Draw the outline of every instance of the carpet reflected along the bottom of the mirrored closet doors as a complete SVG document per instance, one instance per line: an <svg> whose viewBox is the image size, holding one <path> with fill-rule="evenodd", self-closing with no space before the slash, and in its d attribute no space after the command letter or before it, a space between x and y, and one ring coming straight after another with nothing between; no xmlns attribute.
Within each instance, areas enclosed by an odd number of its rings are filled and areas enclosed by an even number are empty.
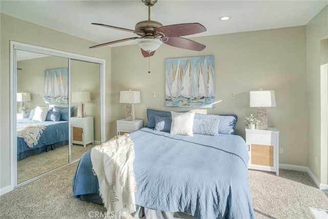
<svg viewBox="0 0 328 219"><path fill-rule="evenodd" d="M72 160L82 156L95 145L89 144L72 145ZM68 145L50 150L41 154L26 157L17 162L17 184L23 183L31 178L68 164Z"/></svg>

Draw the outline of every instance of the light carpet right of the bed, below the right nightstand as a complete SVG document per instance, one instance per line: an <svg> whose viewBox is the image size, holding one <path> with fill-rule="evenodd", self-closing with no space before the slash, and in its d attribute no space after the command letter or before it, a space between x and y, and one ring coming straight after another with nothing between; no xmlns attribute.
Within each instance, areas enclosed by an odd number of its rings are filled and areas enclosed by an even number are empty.
<svg viewBox="0 0 328 219"><path fill-rule="evenodd" d="M310 207L328 209L328 197L306 172L249 170L256 218L315 218Z"/></svg>

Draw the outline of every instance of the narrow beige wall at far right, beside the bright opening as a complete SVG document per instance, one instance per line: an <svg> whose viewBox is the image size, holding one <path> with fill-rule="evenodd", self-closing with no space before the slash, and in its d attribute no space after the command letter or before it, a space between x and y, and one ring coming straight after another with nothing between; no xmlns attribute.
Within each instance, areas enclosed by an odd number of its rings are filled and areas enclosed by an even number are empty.
<svg viewBox="0 0 328 219"><path fill-rule="evenodd" d="M306 106L308 108L308 166L320 183L327 184L327 109L324 109L326 95L321 86L320 44L321 39L328 35L328 6L321 10L306 25ZM326 88L325 88L326 89ZM318 156L318 165L315 164ZM321 177L323 176L323 177Z"/></svg>

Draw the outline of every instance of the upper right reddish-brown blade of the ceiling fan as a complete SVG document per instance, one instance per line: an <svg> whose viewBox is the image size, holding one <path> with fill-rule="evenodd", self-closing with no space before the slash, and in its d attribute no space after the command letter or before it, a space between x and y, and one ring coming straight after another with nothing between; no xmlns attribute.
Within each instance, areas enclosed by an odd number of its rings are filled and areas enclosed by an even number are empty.
<svg viewBox="0 0 328 219"><path fill-rule="evenodd" d="M206 28L199 23L174 24L162 26L156 32L163 33L165 36L187 36L191 34L205 32Z"/></svg>

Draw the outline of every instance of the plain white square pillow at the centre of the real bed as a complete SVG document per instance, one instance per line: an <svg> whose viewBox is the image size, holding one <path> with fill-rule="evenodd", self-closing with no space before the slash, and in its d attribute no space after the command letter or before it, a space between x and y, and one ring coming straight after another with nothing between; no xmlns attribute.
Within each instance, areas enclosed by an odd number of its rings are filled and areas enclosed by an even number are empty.
<svg viewBox="0 0 328 219"><path fill-rule="evenodd" d="M173 112L170 134L193 135L194 112Z"/></svg>

